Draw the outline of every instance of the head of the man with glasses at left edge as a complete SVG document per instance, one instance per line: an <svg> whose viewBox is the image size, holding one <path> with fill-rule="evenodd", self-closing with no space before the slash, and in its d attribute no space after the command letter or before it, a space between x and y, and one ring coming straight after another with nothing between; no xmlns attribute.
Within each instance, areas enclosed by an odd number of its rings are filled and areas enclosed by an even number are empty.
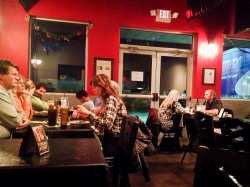
<svg viewBox="0 0 250 187"><path fill-rule="evenodd" d="M9 60L0 60L0 85L6 90L17 86L19 68Z"/></svg>

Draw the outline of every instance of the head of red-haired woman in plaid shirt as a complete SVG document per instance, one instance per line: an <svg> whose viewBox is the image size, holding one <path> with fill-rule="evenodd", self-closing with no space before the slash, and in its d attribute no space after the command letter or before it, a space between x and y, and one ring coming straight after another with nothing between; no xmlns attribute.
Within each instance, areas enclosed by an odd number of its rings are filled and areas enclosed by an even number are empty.
<svg viewBox="0 0 250 187"><path fill-rule="evenodd" d="M102 96L103 99L106 99L110 95L119 98L119 93L112 86L109 77L105 74L94 76L90 81L90 85L93 87L94 94Z"/></svg>

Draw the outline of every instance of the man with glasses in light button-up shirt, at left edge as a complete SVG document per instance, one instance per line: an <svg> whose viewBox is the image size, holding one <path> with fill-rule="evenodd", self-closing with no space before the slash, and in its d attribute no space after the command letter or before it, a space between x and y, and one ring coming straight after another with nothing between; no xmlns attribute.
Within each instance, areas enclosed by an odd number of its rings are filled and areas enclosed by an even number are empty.
<svg viewBox="0 0 250 187"><path fill-rule="evenodd" d="M19 82L18 70L9 60L0 60L0 138L10 138L14 129L30 124L26 115L16 110L11 91Z"/></svg>

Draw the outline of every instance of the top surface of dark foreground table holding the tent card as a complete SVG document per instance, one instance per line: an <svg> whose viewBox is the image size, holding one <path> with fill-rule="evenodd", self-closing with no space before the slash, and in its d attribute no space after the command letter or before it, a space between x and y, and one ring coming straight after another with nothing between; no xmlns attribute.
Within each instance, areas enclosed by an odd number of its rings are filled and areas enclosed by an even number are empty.
<svg viewBox="0 0 250 187"><path fill-rule="evenodd" d="M22 139L0 140L0 170L19 167L106 167L100 143L95 138L49 139L50 152L44 156L19 157Z"/></svg>

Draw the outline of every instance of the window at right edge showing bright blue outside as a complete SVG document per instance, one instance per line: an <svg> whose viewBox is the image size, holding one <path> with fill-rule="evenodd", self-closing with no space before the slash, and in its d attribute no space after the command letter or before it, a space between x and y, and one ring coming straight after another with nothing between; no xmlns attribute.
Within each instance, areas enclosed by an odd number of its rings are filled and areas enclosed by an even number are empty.
<svg viewBox="0 0 250 187"><path fill-rule="evenodd" d="M250 40L224 39L221 95L250 99Z"/></svg>

